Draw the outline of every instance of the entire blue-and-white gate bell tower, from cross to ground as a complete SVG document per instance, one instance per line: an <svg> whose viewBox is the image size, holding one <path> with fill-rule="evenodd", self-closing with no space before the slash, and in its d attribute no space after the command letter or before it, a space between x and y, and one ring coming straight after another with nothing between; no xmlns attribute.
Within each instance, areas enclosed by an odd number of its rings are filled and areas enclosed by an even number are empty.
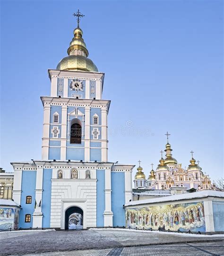
<svg viewBox="0 0 224 256"><path fill-rule="evenodd" d="M68 56L49 69L51 95L43 103L42 159L11 163L19 228L86 229L125 226L134 165L108 161L104 73L88 58L74 14Z"/></svg>

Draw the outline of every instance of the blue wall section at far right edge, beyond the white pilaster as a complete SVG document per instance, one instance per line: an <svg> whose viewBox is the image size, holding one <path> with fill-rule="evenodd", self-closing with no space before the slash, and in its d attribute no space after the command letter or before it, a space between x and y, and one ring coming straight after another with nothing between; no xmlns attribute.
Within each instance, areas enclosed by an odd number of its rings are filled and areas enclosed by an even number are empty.
<svg viewBox="0 0 224 256"><path fill-rule="evenodd" d="M224 231L224 202L213 201L212 206L215 231Z"/></svg>

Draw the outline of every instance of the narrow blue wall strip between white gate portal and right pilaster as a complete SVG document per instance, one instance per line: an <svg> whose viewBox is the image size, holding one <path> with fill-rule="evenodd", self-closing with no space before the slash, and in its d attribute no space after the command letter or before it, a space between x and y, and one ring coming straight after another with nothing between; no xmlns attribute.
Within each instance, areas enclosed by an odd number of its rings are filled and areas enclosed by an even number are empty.
<svg viewBox="0 0 224 256"><path fill-rule="evenodd" d="M96 170L96 226L104 227L105 210L105 170Z"/></svg>

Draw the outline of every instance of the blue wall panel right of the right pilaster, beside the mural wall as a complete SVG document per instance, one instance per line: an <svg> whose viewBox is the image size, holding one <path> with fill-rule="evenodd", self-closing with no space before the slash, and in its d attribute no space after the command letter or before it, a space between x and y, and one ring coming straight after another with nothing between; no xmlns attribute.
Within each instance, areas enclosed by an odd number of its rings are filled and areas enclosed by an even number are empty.
<svg viewBox="0 0 224 256"><path fill-rule="evenodd" d="M111 203L113 212L113 227L125 226L125 210L123 205L125 204L125 177L124 172L112 172L111 173Z"/></svg>

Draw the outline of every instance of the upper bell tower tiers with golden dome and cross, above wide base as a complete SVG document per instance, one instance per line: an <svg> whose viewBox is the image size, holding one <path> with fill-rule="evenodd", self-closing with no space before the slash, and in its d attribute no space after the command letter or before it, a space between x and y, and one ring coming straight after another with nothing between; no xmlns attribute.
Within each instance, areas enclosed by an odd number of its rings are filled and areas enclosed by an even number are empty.
<svg viewBox="0 0 224 256"><path fill-rule="evenodd" d="M110 101L102 100L104 73L88 57L79 27L84 15L74 13L68 56L49 69L51 96L43 96L43 160L107 162L107 115Z"/></svg>

